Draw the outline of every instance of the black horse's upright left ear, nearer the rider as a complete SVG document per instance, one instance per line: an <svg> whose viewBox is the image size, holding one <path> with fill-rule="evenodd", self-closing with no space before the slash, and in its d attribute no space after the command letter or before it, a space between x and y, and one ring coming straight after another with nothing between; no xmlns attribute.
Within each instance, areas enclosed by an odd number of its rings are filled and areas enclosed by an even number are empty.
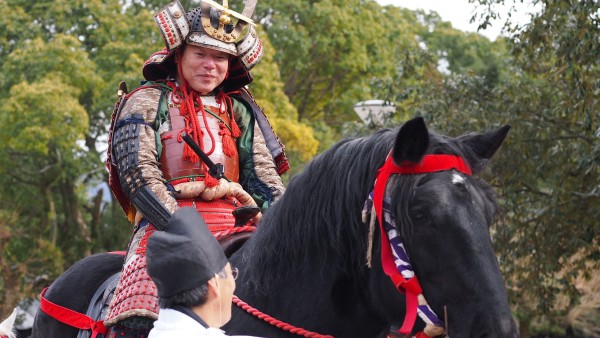
<svg viewBox="0 0 600 338"><path fill-rule="evenodd" d="M394 162L404 161L418 163L429 147L429 131L422 117L416 117L406 123L398 131L396 143L392 151Z"/></svg>

